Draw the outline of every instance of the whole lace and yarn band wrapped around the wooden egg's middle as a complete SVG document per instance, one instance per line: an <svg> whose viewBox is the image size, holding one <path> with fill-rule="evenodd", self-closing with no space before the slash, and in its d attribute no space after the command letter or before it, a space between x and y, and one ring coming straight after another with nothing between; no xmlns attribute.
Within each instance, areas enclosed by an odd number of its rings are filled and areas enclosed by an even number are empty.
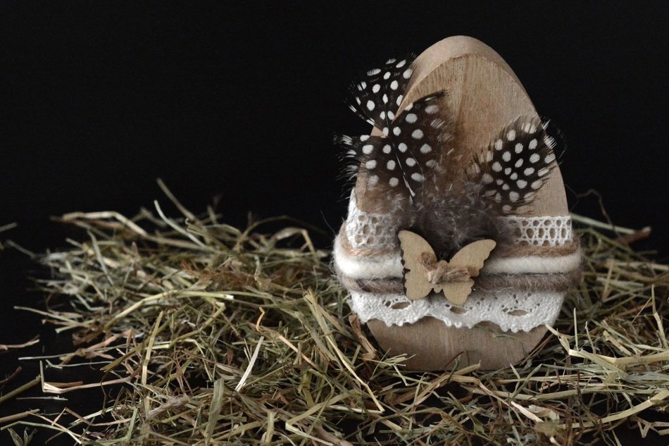
<svg viewBox="0 0 669 446"><path fill-rule="evenodd" d="M552 324L568 287L580 277L581 255L570 216L503 217L512 243L499 246L475 278L463 305L432 293L412 301L404 295L397 240L401 224L392 214L358 209L351 194L349 214L335 238L335 270L349 290L361 321L402 326L427 316L447 326L471 328L495 323L501 330L530 331Z"/></svg>

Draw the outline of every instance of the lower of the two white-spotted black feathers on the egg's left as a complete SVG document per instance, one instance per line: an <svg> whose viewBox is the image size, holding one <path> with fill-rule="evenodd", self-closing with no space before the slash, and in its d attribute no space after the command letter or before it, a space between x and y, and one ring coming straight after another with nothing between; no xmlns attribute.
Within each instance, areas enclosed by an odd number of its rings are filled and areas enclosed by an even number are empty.
<svg viewBox="0 0 669 446"><path fill-rule="evenodd" d="M340 137L339 142L368 174L368 187L415 196L439 164L441 144L450 133L440 118L443 92L418 99L384 123L382 136Z"/></svg>

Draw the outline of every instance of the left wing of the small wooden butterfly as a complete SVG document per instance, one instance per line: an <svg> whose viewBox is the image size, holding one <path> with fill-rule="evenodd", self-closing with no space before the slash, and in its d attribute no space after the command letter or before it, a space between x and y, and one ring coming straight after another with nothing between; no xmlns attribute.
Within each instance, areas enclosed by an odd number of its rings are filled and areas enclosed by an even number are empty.
<svg viewBox="0 0 669 446"><path fill-rule="evenodd" d="M416 233L408 230L399 231L399 246L402 249L402 264L404 265L404 288L406 297L411 300L423 299L430 294L433 285L427 281L425 267L420 264L420 256L430 253L436 261L437 256L427 241Z"/></svg>

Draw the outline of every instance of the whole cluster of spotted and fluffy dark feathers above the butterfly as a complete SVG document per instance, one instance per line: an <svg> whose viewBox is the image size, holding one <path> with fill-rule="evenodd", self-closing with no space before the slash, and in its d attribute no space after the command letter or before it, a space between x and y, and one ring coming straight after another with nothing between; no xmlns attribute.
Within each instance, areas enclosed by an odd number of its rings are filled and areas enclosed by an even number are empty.
<svg viewBox="0 0 669 446"><path fill-rule="evenodd" d="M380 135L339 136L365 187L391 200L392 213L446 258L474 240L510 243L504 219L532 202L556 166L548 124L519 116L463 165L470 147L451 146L454 117L446 92L429 94L400 112L413 59L390 59L351 85L351 109Z"/></svg>

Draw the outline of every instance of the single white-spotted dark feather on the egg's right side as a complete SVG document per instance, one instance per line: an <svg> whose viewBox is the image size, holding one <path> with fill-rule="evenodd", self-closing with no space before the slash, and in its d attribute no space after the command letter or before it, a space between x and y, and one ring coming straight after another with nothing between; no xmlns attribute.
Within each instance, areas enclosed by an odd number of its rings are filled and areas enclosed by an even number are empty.
<svg viewBox="0 0 669 446"><path fill-rule="evenodd" d="M482 185L482 194L503 213L532 202L556 167L556 139L548 123L520 117L503 128L475 159L470 180Z"/></svg>

